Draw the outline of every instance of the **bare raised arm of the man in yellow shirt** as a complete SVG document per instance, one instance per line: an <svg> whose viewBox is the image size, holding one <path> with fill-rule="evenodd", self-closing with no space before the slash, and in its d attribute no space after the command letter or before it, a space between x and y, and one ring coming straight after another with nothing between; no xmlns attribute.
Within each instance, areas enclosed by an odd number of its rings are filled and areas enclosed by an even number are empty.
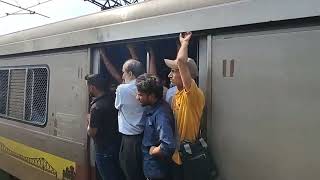
<svg viewBox="0 0 320 180"><path fill-rule="evenodd" d="M192 83L192 76L190 74L187 60L188 60L188 46L191 39L191 32L181 33L180 34L180 44L181 47L177 54L177 64L182 79L183 87L187 90L190 89Z"/></svg>

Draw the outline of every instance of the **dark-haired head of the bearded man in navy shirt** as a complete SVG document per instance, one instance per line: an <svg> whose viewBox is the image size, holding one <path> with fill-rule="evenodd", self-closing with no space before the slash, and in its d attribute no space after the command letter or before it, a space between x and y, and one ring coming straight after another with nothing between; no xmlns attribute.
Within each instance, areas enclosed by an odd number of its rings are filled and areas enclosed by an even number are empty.
<svg viewBox="0 0 320 180"><path fill-rule="evenodd" d="M142 74L137 78L137 100L142 106L152 105L163 96L161 80L152 74Z"/></svg>

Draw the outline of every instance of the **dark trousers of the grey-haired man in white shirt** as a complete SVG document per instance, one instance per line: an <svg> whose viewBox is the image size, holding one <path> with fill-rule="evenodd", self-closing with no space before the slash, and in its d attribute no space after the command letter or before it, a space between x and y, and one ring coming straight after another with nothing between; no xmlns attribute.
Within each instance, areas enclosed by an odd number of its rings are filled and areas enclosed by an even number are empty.
<svg viewBox="0 0 320 180"><path fill-rule="evenodd" d="M141 144L142 135L122 135L119 160L126 180L145 180Z"/></svg>

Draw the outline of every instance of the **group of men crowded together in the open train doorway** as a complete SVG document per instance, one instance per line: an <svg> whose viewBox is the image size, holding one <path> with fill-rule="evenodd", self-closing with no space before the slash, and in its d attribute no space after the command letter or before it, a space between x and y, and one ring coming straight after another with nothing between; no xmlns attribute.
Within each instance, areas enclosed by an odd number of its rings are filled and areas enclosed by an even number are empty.
<svg viewBox="0 0 320 180"><path fill-rule="evenodd" d="M99 49L107 72L119 83L115 95L112 95L103 91L105 87L101 85L99 75L87 79L89 92L95 96L91 103L88 135L94 137L98 149L96 164L103 180L112 179L110 174L118 173L106 169L112 163L113 167L120 164L126 180L183 180L188 174L178 149L182 141L196 140L205 104L203 92L195 82L197 64L188 57L191 36L191 32L181 33L176 59L164 60L171 69L168 77L172 84L165 93L162 80L157 76L152 47L146 48L149 67L145 73L134 46L127 45L130 57L122 66L122 75L108 57L110 52ZM114 103L110 107L111 103L106 102L112 97ZM117 113L117 117L111 117L112 113ZM116 153L119 156L115 155L110 145L112 142L108 141L109 136L115 137L117 133L121 134L121 140L115 139L121 145L113 147L118 148ZM104 155L110 154L118 157L118 162L105 158Z"/></svg>

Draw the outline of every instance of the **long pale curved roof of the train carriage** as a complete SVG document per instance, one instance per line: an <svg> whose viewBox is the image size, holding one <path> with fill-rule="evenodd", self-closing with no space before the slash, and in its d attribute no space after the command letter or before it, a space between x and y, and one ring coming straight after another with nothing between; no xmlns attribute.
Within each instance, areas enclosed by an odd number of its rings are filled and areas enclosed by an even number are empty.
<svg viewBox="0 0 320 180"><path fill-rule="evenodd" d="M151 0L0 36L0 56L319 15L319 0Z"/></svg>

